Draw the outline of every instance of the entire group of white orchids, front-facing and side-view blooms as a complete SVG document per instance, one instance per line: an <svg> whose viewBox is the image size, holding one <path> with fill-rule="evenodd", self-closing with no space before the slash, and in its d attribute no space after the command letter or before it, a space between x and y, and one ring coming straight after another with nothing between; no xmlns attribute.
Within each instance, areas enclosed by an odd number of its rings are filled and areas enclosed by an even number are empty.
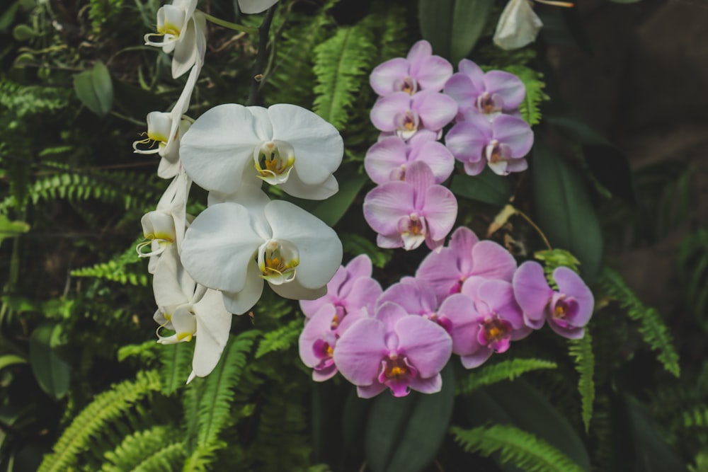
<svg viewBox="0 0 708 472"><path fill-rule="evenodd" d="M239 5L244 13L258 13L275 1ZM190 73L172 110L149 113L147 139L133 144L138 153L159 154L158 175L172 179L157 208L142 218L147 241L137 251L150 258L154 275L158 342L195 338L188 381L214 369L232 313L249 311L264 282L285 298L317 299L342 260L333 229L261 190L265 181L294 197L334 195L338 183L332 174L344 147L332 125L286 104L266 109L232 103L197 120L184 116L206 50L206 16L196 3L174 0L161 7L158 33L145 37L148 45L173 52L174 78ZM192 183L209 192L207 208L196 217L186 211Z"/></svg>

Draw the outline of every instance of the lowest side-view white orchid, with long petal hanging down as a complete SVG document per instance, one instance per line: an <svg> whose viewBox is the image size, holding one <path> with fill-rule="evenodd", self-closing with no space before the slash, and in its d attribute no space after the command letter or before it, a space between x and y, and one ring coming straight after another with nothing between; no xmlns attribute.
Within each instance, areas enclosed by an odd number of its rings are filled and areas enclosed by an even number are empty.
<svg viewBox="0 0 708 472"><path fill-rule="evenodd" d="M196 284L179 263L178 258L161 258L153 279L158 309L154 319L160 328L175 331L161 336L158 343L184 343L195 338L192 373L203 377L216 367L229 340L232 314L224 307L222 294Z"/></svg>

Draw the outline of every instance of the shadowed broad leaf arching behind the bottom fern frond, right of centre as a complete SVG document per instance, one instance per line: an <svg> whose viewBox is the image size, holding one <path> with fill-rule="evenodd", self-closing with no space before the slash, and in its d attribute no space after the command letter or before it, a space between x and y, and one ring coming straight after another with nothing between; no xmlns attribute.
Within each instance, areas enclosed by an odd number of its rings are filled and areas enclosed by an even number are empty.
<svg viewBox="0 0 708 472"><path fill-rule="evenodd" d="M588 451L576 430L547 398L523 379L480 388L466 398L473 426L486 422L514 425L544 439L590 471Z"/></svg>

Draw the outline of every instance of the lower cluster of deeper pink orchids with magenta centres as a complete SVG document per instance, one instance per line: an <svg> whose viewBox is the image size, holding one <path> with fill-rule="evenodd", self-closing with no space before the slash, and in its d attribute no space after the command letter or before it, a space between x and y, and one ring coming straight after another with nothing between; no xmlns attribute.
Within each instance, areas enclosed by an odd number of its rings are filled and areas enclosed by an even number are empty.
<svg viewBox="0 0 708 472"><path fill-rule="evenodd" d="M567 267L517 267L502 246L465 227L423 260L415 277L382 291L366 255L342 266L325 297L301 301L307 320L299 338L302 362L316 381L341 374L362 398L389 388L435 393L451 355L467 369L506 352L545 321L565 338L581 338L593 313L593 294Z"/></svg>

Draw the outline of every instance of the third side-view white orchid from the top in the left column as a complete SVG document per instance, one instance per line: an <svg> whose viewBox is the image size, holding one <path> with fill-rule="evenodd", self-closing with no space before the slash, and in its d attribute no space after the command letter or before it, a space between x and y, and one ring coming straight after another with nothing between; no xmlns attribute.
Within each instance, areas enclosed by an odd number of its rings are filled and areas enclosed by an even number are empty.
<svg viewBox="0 0 708 472"><path fill-rule="evenodd" d="M159 258L168 248L174 248L176 255L179 253L187 226L187 197L191 185L192 180L184 171L178 173L157 202L157 208L140 220L147 241L137 245L137 253L141 258L150 258L148 271L151 274L155 273ZM146 252L144 249L148 247Z"/></svg>

